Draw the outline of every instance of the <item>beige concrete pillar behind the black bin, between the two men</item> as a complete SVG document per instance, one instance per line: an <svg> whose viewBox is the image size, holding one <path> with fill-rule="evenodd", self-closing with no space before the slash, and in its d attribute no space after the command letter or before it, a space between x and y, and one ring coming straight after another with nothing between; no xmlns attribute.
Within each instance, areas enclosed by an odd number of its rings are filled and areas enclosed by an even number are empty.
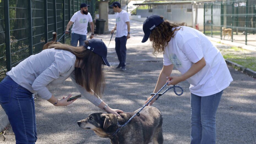
<svg viewBox="0 0 256 144"><path fill-rule="evenodd" d="M108 31L108 1L99 2L99 19L106 20L104 31Z"/></svg>

